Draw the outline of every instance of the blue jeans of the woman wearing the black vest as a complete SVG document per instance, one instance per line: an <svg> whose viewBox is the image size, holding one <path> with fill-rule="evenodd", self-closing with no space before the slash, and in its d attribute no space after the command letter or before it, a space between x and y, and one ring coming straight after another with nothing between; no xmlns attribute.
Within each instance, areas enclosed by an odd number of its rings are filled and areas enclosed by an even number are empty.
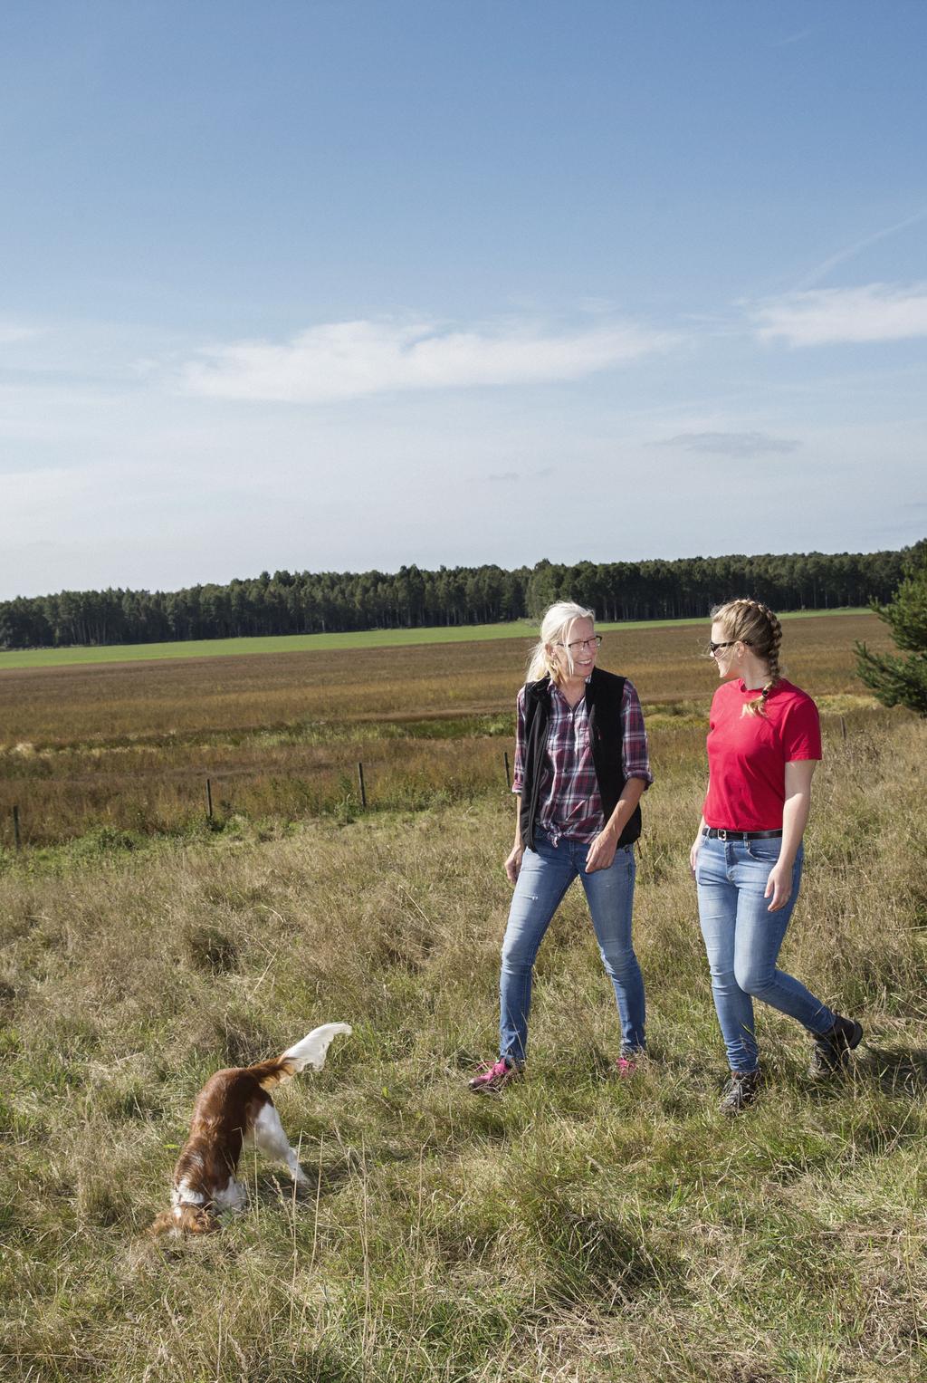
<svg viewBox="0 0 927 1383"><path fill-rule="evenodd" d="M550 920L579 874L586 891L598 952L615 986L622 1022L622 1052L644 1050L644 979L631 946L634 846L615 852L611 869L586 874L589 845L561 837L553 845L535 837L525 851L501 943L499 978L500 1055L521 1064L528 1047L528 1015L535 957Z"/></svg>

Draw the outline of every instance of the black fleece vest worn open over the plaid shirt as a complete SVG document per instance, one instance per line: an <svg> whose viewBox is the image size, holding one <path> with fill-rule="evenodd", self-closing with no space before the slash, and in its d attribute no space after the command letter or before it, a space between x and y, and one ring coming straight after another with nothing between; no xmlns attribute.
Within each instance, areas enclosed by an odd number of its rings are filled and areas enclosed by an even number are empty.
<svg viewBox="0 0 927 1383"><path fill-rule="evenodd" d="M626 779L622 773L622 697L624 678L593 668L586 683L589 709L589 740L598 780L605 820L618 806ZM550 727L550 678L525 683L525 763L521 781L521 838L528 849L535 848L535 823L544 750ZM641 809L635 806L619 838L619 846L630 845L641 834Z"/></svg>

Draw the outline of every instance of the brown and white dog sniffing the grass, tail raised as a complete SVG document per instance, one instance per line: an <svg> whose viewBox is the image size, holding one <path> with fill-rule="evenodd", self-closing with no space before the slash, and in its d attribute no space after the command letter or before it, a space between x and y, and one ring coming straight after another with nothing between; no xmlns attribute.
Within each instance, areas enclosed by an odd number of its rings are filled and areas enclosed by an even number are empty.
<svg viewBox="0 0 927 1383"><path fill-rule="evenodd" d="M307 1066L322 1070L338 1033L350 1036L348 1023L323 1023L282 1057L210 1076L196 1097L189 1135L174 1167L171 1209L157 1216L152 1234L209 1234L218 1228L216 1217L222 1210L240 1210L247 1189L236 1178L238 1159L249 1138L268 1158L286 1162L293 1181L305 1181L269 1091Z"/></svg>

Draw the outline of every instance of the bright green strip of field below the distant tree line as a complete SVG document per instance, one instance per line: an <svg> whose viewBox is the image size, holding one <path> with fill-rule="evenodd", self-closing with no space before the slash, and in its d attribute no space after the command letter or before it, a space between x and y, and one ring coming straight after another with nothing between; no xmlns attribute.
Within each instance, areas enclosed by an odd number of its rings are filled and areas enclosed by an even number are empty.
<svg viewBox="0 0 927 1383"><path fill-rule="evenodd" d="M800 610L783 620L862 614L862 610ZM623 624L600 624L608 629L653 629L705 624L705 620L629 620ZM162 658L238 658L254 653L312 653L326 649L390 649L417 643L474 643L484 639L536 639L537 625L526 620L508 624L467 624L430 629L363 629L354 633L267 635L256 639L191 639L171 643L124 643L101 647L23 649L0 653L0 672L6 668L52 668L82 662L145 662Z"/></svg>

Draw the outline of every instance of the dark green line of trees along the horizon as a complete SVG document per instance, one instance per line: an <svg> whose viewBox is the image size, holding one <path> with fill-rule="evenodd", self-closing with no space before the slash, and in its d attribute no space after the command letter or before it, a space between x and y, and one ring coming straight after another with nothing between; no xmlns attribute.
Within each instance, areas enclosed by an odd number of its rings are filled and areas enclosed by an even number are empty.
<svg viewBox="0 0 927 1383"><path fill-rule="evenodd" d="M0 602L0 649L493 624L536 620L561 597L612 621L703 617L739 595L774 610L825 610L888 600L915 550L262 571L184 591L59 591Z"/></svg>

